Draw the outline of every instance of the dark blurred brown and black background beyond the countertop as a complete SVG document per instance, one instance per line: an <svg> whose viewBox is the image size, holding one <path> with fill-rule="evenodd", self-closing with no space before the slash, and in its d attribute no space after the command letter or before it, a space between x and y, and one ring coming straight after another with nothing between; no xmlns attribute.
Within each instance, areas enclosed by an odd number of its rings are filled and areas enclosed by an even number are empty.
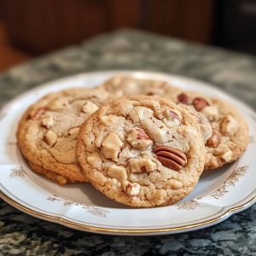
<svg viewBox="0 0 256 256"><path fill-rule="evenodd" d="M125 27L256 55L256 0L0 0L0 72Z"/></svg>

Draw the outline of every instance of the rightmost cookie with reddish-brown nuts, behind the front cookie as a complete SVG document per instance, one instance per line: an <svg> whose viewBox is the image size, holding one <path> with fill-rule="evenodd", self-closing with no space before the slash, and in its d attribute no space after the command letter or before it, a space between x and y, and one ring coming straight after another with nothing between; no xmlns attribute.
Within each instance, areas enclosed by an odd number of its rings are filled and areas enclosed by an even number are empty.
<svg viewBox="0 0 256 256"><path fill-rule="evenodd" d="M237 160L247 148L248 125L241 113L228 102L183 90L166 95L185 108L203 114L211 124L211 136L205 141L206 169L216 169ZM209 131L209 129L207 129Z"/></svg>

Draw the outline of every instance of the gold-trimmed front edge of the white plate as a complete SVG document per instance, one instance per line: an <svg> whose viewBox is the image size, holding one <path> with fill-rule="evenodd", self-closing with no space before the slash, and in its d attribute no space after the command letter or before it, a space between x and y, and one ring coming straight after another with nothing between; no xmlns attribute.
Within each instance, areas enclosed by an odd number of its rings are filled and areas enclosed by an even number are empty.
<svg viewBox="0 0 256 256"><path fill-rule="evenodd" d="M173 228L164 228L164 229L152 229L152 230L122 230L122 229L107 229L107 228L101 228L101 227L92 227L89 225L84 225L84 224L78 224L73 221L67 220L65 218L61 217L56 217L52 216L49 214L41 213L34 211L28 207L22 206L19 202L14 201L12 198L10 198L8 195L5 195L3 191L0 191L0 197L8 202L11 206L19 209L21 212L25 212L29 215L32 215L33 217L37 218L42 218L44 220L48 220L50 222L54 222L57 224L62 224L64 226L73 228L75 230L84 230L84 231L90 231L90 232L97 232L97 233L103 233L103 234L127 234L127 235L138 235L138 234L160 234L160 233L166 233L166 232L178 232L178 231L183 231L183 230L193 230L194 228L200 228L204 225L211 225L214 223L217 223L219 220L228 217L229 214L232 214L233 212L240 211L243 208L249 207L250 205L253 205L253 203L256 201L256 196L253 196L253 198L246 203L237 206L237 207L232 207L226 212L224 212L221 216L218 216L217 218L212 218L206 221L202 221L201 223L197 224L189 224L189 225L184 225L184 226L179 226L179 227L173 227Z"/></svg>

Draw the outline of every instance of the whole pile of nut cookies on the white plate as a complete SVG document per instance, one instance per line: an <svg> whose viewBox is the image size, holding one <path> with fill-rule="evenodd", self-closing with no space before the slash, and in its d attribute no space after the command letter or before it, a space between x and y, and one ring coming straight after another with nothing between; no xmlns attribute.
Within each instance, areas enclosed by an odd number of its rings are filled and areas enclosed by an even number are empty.
<svg viewBox="0 0 256 256"><path fill-rule="evenodd" d="M44 96L17 137L32 170L55 183L89 181L125 205L157 207L189 195L204 169L239 158L248 126L227 102L116 76Z"/></svg>

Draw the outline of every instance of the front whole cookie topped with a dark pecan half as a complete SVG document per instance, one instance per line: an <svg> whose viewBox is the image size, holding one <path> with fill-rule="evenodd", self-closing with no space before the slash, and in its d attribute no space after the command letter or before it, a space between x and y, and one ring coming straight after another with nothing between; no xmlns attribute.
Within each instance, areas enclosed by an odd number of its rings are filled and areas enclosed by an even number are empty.
<svg viewBox="0 0 256 256"><path fill-rule="evenodd" d="M90 183L131 207L180 201L205 162L193 116L159 96L128 96L102 106L81 126L76 152Z"/></svg>

